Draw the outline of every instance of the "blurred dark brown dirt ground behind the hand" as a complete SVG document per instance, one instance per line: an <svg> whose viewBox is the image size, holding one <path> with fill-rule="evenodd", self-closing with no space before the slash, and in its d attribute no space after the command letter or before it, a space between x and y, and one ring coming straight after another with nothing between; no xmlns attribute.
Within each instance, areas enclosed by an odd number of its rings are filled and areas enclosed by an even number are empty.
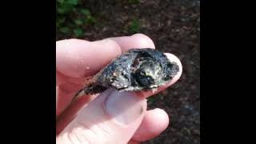
<svg viewBox="0 0 256 144"><path fill-rule="evenodd" d="M149 100L149 109L166 110L170 126L157 138L143 143L200 143L200 1L90 0L82 6L97 18L95 24L84 27L83 39L93 41L138 32L153 39L158 50L175 54L182 61L182 78ZM135 26L130 27L134 21ZM57 30L56 39L62 38L74 35Z"/></svg>

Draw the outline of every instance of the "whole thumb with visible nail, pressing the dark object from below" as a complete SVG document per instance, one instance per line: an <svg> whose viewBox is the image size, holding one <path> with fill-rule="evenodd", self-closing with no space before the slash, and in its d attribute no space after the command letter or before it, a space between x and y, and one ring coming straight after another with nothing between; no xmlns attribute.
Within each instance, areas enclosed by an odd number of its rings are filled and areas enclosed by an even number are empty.
<svg viewBox="0 0 256 144"><path fill-rule="evenodd" d="M106 90L78 112L56 143L127 144L145 112L146 99L134 92Z"/></svg>

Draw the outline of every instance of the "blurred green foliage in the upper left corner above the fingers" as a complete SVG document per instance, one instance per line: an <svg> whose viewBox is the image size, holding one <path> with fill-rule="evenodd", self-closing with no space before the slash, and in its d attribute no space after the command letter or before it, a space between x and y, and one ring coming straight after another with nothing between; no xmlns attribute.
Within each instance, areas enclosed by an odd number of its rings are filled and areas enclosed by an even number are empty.
<svg viewBox="0 0 256 144"><path fill-rule="evenodd" d="M57 34L74 35L76 38L81 38L85 27L96 22L96 18L91 15L90 10L81 6L83 1L85 0L56 0Z"/></svg>

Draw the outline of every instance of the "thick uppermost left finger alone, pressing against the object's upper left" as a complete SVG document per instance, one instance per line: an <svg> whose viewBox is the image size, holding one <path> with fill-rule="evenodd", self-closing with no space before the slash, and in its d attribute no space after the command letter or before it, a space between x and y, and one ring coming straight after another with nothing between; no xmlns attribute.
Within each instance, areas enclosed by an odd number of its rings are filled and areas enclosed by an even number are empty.
<svg viewBox="0 0 256 144"><path fill-rule="evenodd" d="M96 42L62 40L56 42L56 68L66 77L82 78L95 74L119 54L120 46L110 39Z"/></svg>

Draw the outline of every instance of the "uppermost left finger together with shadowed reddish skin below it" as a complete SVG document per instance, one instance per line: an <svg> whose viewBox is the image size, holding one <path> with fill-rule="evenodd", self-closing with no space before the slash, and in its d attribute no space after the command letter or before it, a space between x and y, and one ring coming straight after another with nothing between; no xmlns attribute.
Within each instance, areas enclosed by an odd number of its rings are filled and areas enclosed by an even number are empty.
<svg viewBox="0 0 256 144"><path fill-rule="evenodd" d="M56 115L61 114L74 94L82 89L86 77L97 73L121 53L120 46L110 39L96 42L69 39L56 42Z"/></svg>

